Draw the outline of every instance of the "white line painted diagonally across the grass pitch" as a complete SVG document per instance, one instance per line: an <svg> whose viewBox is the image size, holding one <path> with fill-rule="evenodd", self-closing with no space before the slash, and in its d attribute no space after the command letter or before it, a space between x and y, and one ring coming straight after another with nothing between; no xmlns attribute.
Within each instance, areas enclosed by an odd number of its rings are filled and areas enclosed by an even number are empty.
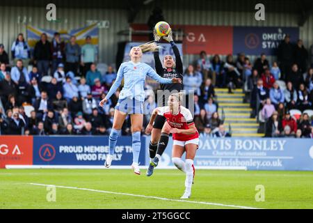
<svg viewBox="0 0 313 223"><path fill-rule="evenodd" d="M187 200L179 200L179 199L168 199L165 197L154 197L154 196L145 196L141 194L128 194L128 193L122 193L122 192L111 192L106 190L93 190L88 188L80 188L80 187L65 187L65 186L58 186L58 185L48 185L48 184L41 184L41 183L28 183L30 185L37 185L37 186L53 186L53 187L59 187L59 188L66 188L66 189L74 189L74 190L86 190L91 192L99 192L99 193L105 193L105 194L118 194L118 195L126 195L126 196L132 196L132 197L143 197L148 199L158 199L163 201L177 201L177 202L185 202L185 203L197 203L197 204L205 204L205 205L211 205L211 206L223 206L223 207L230 207L230 208L243 208L243 209L262 209L262 208L252 208L247 206L236 206L232 204L223 204L223 203L211 203L211 202L204 202L204 201L187 201Z"/></svg>

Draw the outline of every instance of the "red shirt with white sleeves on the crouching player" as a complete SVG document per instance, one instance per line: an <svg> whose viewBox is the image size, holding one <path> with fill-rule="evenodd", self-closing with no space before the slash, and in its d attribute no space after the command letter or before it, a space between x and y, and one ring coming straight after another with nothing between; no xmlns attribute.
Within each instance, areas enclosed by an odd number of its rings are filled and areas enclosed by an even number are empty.
<svg viewBox="0 0 313 223"><path fill-rule="evenodd" d="M171 128L178 128L180 130L188 130L188 125L193 124L193 116L191 112L186 109L186 107L180 107L178 114L174 115L170 113L170 107L159 107L158 114L160 116L166 117L166 121ZM178 141L188 141L191 139L197 139L199 137L198 130L194 134L182 134L174 133L172 134L172 139Z"/></svg>

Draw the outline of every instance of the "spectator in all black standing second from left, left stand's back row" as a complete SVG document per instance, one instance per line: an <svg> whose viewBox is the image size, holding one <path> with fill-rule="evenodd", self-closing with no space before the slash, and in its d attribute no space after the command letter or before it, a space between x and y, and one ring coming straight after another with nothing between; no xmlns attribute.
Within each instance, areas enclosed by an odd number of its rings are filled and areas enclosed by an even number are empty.
<svg viewBox="0 0 313 223"><path fill-rule="evenodd" d="M37 65L40 75L48 75L49 66L51 63L51 43L48 41L46 33L42 33L40 40L35 44L33 50L34 63Z"/></svg>

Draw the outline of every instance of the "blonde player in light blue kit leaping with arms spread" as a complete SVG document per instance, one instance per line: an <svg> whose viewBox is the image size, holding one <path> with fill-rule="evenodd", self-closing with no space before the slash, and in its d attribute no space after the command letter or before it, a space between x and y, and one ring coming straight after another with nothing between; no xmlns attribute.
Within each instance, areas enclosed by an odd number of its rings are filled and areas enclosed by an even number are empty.
<svg viewBox="0 0 313 223"><path fill-rule="evenodd" d="M147 43L138 47L131 48L129 56L131 61L122 63L118 69L118 75L106 95L99 105L102 107L104 103L109 100L111 95L120 86L124 78L124 87L120 91L118 103L115 106L113 128L109 137L109 155L106 156L105 167L109 168L113 160L114 149L118 135L121 132L122 124L127 115L131 118L131 133L132 133L132 148L133 148L133 163L131 168L134 169L135 174L141 174L138 167L139 153L141 151L141 128L143 128L143 102L145 100L145 91L143 86L145 84L145 77L148 75L161 84L182 83L179 78L166 79L160 77L146 63L141 63L143 52L153 52L158 47L154 43Z"/></svg>

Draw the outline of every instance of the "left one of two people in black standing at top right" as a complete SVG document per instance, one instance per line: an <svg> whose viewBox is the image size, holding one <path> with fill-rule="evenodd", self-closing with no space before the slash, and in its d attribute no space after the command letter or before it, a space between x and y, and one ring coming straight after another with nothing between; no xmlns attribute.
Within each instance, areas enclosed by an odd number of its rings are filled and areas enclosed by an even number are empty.
<svg viewBox="0 0 313 223"><path fill-rule="evenodd" d="M294 62L294 45L290 43L290 36L284 36L284 40L278 45L278 62L282 71L282 79L285 80L291 72L290 68ZM294 83L295 84L295 83Z"/></svg>

